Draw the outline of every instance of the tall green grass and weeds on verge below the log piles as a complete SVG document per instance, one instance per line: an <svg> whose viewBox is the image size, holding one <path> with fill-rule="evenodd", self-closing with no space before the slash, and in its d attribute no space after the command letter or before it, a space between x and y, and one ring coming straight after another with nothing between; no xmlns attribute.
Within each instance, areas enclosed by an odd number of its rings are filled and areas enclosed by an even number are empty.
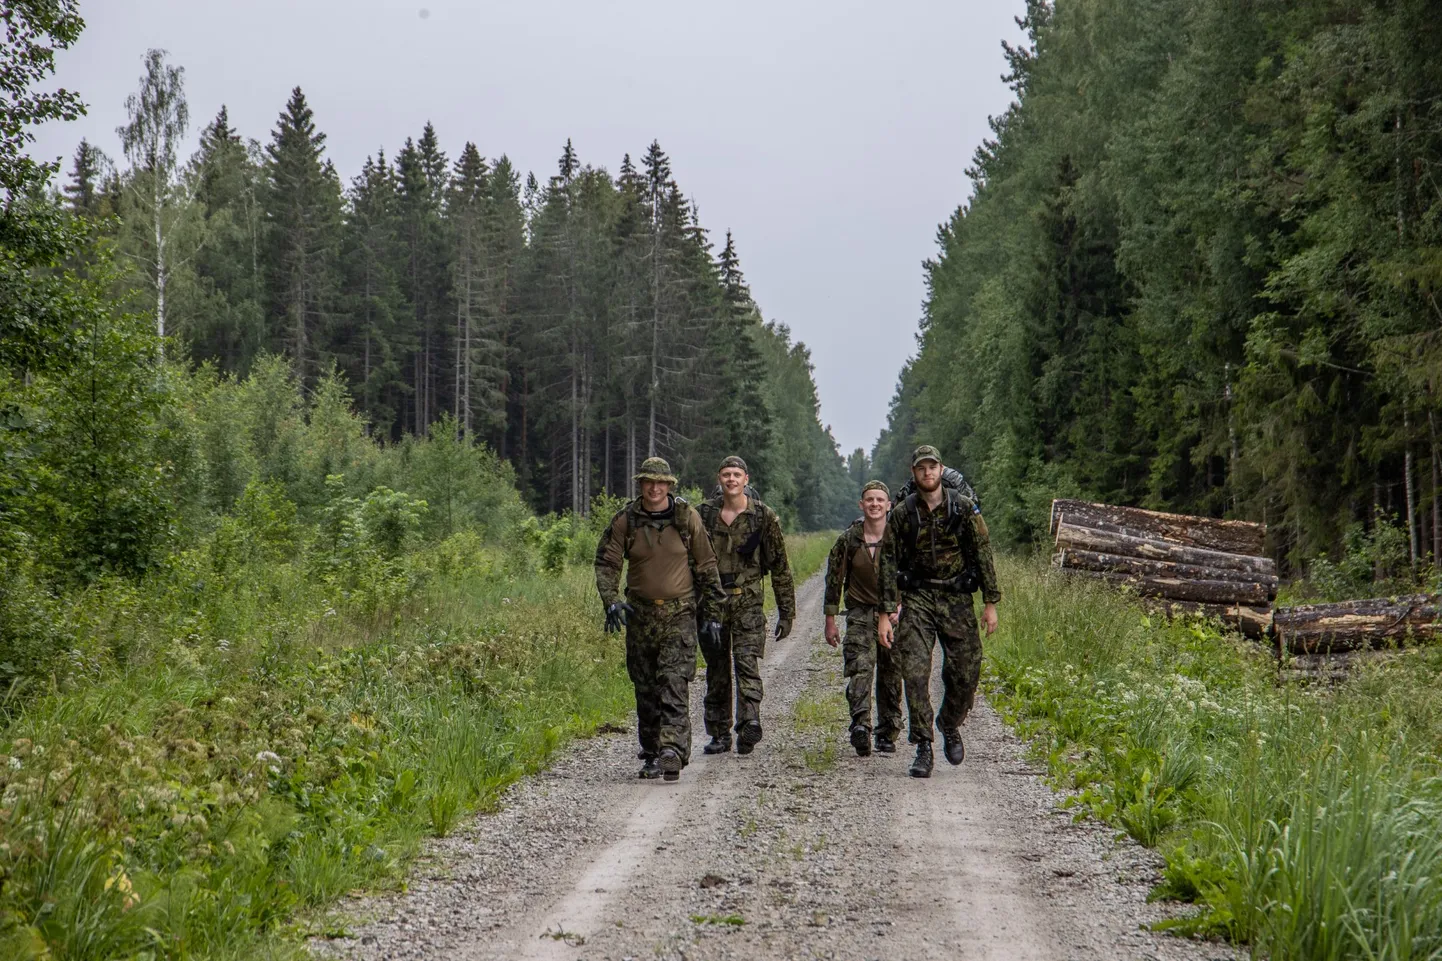
<svg viewBox="0 0 1442 961"><path fill-rule="evenodd" d="M1167 859L1182 932L1276 961L1442 957L1442 649L1282 680L1200 622L1005 561L992 698L1073 804Z"/></svg>

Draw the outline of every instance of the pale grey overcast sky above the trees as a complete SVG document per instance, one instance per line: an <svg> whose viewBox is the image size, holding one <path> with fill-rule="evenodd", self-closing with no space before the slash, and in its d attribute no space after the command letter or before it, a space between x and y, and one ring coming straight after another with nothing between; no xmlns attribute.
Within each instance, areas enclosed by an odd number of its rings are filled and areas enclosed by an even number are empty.
<svg viewBox="0 0 1442 961"><path fill-rule="evenodd" d="M115 127L147 48L186 69L192 141L226 104L265 141L306 91L349 182L427 120L539 177L571 137L616 170L652 139L717 241L734 231L751 293L810 348L822 423L871 449L916 351L921 260L966 198L963 169L1005 110L1001 40L1022 0L81 0L58 81L89 115L40 130L39 156Z"/></svg>

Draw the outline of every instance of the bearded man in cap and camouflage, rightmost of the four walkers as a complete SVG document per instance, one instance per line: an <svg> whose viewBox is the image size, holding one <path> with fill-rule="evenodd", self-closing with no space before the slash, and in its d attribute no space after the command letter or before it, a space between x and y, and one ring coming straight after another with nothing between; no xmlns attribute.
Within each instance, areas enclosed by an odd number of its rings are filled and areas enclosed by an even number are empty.
<svg viewBox="0 0 1442 961"><path fill-rule="evenodd" d="M881 566L881 607L901 619L895 629L897 658L906 683L910 740L916 745L913 778L932 776L932 648L942 642L945 697L936 726L946 759L962 763L966 747L957 727L972 710L981 680L982 639L976 629L972 592L981 587L986 633L996 629L996 569L986 521L975 501L942 486L942 455L921 446L911 453L916 492L898 502L887 521ZM891 644L891 619L878 615L881 644Z"/></svg>

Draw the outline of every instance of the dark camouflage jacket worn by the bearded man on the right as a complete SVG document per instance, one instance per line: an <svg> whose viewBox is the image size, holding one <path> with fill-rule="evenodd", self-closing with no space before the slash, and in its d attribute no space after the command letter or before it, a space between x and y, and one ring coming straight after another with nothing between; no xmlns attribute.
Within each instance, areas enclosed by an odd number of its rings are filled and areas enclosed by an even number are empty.
<svg viewBox="0 0 1442 961"><path fill-rule="evenodd" d="M920 495L891 508L883 553L884 610L894 610L900 600L897 574L901 571L920 580L952 580L970 570L981 584L982 602L1001 600L986 521L976 504L957 491L947 491L939 511L927 508Z"/></svg>

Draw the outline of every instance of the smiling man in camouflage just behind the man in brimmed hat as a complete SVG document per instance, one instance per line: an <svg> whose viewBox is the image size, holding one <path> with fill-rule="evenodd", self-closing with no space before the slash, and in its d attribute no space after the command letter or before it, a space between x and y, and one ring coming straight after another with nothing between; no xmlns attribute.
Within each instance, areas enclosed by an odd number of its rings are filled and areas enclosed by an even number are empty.
<svg viewBox="0 0 1442 961"><path fill-rule="evenodd" d="M735 752L748 755L761 740L761 665L766 654L766 613L761 610L763 577L771 574L776 593L776 639L792 632L796 589L786 560L782 522L771 508L747 495L750 475L737 456L721 462L721 493L701 504L698 512L711 535L721 570L725 603L721 636L702 642L707 659L708 755L731 750L731 671L735 670Z"/></svg>

